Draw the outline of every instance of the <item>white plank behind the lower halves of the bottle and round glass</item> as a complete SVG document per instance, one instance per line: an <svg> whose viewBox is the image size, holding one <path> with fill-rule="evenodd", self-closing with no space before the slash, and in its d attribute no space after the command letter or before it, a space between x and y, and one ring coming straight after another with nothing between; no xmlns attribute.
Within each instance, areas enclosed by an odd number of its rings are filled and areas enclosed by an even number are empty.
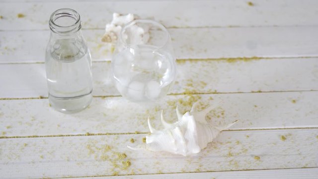
<svg viewBox="0 0 318 179"><path fill-rule="evenodd" d="M181 60L170 93L318 90L318 58ZM93 63L93 95L119 95L109 62ZM0 97L47 95L44 64L0 65Z"/></svg>

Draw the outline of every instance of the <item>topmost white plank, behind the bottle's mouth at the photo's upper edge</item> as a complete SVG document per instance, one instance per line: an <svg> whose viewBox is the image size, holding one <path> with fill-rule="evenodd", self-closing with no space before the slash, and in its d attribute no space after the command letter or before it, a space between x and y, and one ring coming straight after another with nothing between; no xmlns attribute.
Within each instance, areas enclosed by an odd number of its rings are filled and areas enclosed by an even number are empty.
<svg viewBox="0 0 318 179"><path fill-rule="evenodd" d="M142 18L155 18L167 27L304 26L317 25L316 6L316 0L302 3L258 0L253 1L253 5L249 5L246 0L2 2L0 30L47 29L51 13L64 7L79 12L83 28L104 28L113 12L136 13ZM232 15L229 16L229 12ZM18 13L24 16L18 18Z"/></svg>

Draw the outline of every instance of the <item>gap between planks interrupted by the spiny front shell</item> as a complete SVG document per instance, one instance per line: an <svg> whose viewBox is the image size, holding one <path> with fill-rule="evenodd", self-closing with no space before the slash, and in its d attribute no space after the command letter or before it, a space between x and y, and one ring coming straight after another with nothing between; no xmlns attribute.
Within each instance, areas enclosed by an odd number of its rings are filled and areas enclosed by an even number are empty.
<svg viewBox="0 0 318 179"><path fill-rule="evenodd" d="M318 127L290 127L290 128L255 128L255 129L227 129L223 131L259 131L259 130L296 130L296 129L318 129ZM222 131L222 132L223 132ZM135 135L148 134L149 132L126 132L126 133L89 133L85 134L61 134L61 135L30 135L30 136L0 136L1 139L15 139L15 138L46 138L46 137L78 137L78 136L107 136L107 135ZM222 172L222 171L221 171Z"/></svg>

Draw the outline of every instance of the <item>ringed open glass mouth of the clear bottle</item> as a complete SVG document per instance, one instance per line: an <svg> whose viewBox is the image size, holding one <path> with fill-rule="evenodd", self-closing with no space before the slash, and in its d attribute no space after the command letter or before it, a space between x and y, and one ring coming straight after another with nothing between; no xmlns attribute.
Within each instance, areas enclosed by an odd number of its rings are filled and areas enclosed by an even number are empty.
<svg viewBox="0 0 318 179"><path fill-rule="evenodd" d="M70 8L58 9L51 14L49 26L53 32L59 34L76 32L81 28L79 13Z"/></svg>

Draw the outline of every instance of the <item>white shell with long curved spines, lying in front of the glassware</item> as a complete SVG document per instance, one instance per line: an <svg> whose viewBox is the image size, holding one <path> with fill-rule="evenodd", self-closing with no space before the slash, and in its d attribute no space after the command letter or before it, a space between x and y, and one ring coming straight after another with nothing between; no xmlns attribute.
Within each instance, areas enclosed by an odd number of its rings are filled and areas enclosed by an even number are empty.
<svg viewBox="0 0 318 179"><path fill-rule="evenodd" d="M212 142L217 135L231 127L237 121L224 126L213 127L205 119L205 116L210 112L215 105L209 106L202 111L197 111L198 101L192 106L190 112L181 115L178 107L176 113L178 121L173 124L167 123L162 116L161 123L164 130L156 130L150 124L148 118L148 125L151 135L146 136L146 144L140 144L136 147L127 146L130 149L145 149L150 151L166 151L173 154L180 154L189 156L199 153L202 149L207 147L207 144Z"/></svg>

